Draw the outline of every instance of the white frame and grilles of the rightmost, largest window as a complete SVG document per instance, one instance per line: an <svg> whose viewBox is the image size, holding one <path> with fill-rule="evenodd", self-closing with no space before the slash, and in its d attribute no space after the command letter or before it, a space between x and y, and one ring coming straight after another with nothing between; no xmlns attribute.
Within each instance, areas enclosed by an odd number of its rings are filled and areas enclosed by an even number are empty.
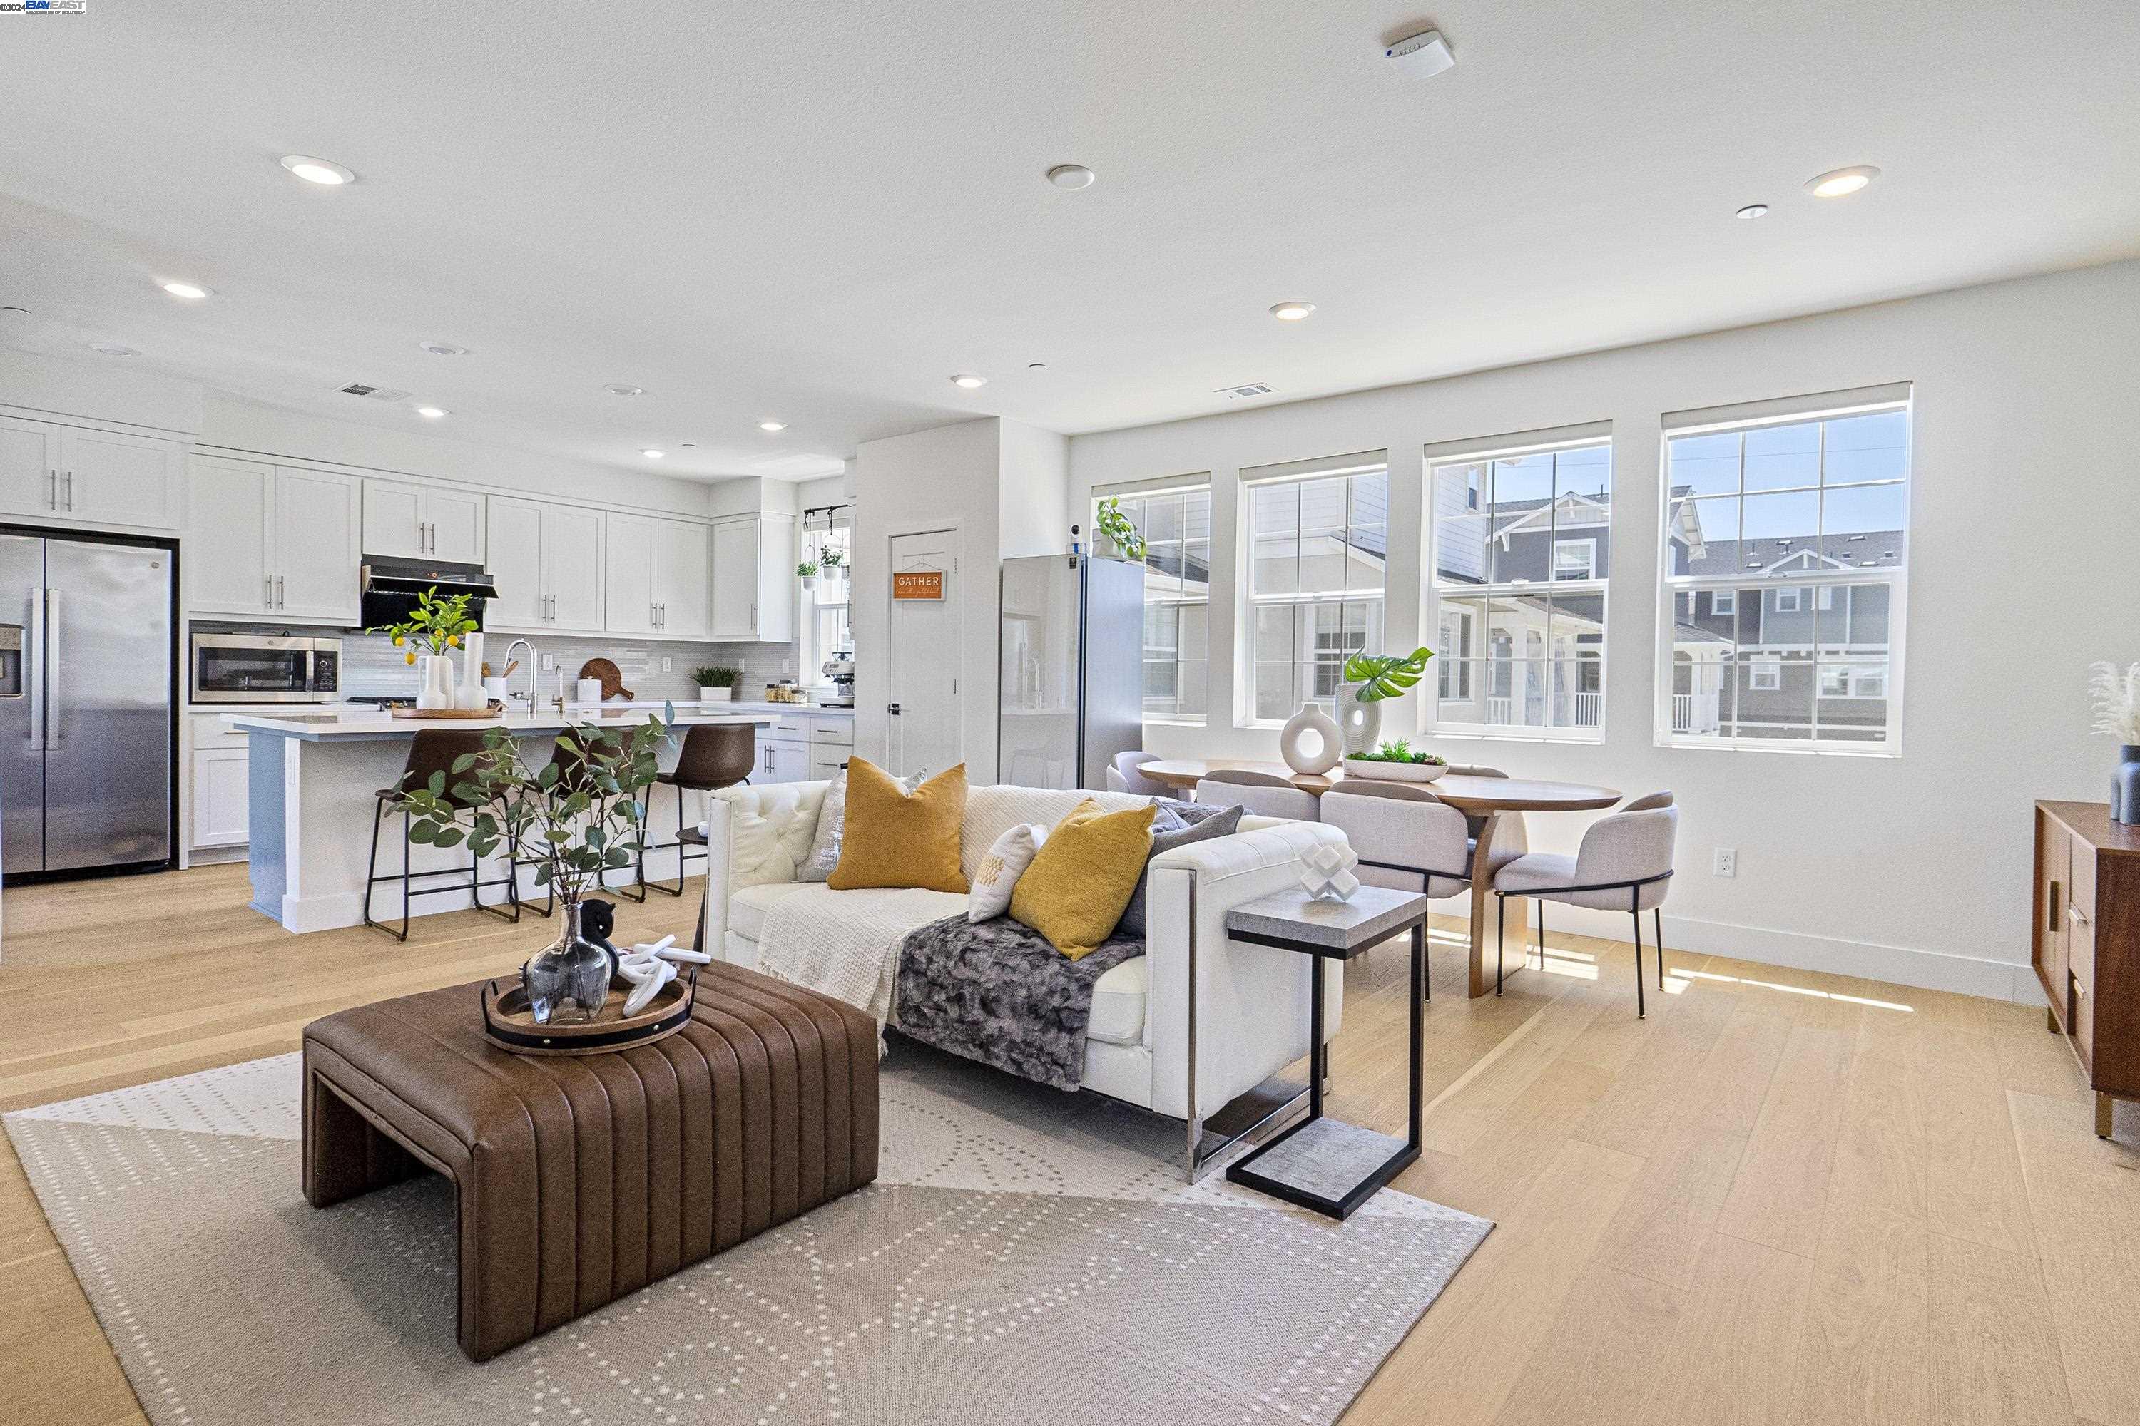
<svg viewBox="0 0 2140 1426"><path fill-rule="evenodd" d="M1789 575L1673 575L1671 573L1671 440L1678 436L1695 436L1706 432L1731 432L1731 430L1755 430L1766 425L1798 425L1806 421L1825 421L1840 417L1860 417L1881 410L1902 413L1905 432L1905 462L1902 479L1892 481L1902 487L1902 539L1911 541L1913 507L1915 507L1915 408L1911 383L1892 383L1885 387L1860 387L1853 391L1830 391L1821 396L1806 398L1785 398L1774 402L1751 402L1746 406L1725 406L1710 410L1688 410L1688 413L1665 413L1663 415L1663 440L1658 443L1658 620L1656 620L1656 654L1654 654L1654 708L1656 708L1656 731L1654 742L1661 748L1708 748L1727 753L1798 753L1798 755L1819 755L1819 757L1902 757L1902 693L1905 693L1905 633L1909 629L1909 558L1900 564L1881 569L1819 569L1810 567L1804 571L1793 571ZM1825 458L1823 458L1825 460ZM1825 470L1823 470L1825 475ZM1847 487L1847 485L1836 485ZM1828 490L1823 483L1819 490ZM1759 494L1759 492L1757 492ZM1825 498L1825 496L1823 496ZM1853 537L1855 539L1855 537ZM1815 545L1817 547L1817 545ZM1815 607L1825 596L1830 607L1836 586L1860 586L1860 584L1885 584L1887 586L1887 644L1885 644L1885 693L1864 695L1855 693L1864 684L1853 676L1851 695L1821 695L1819 667L1843 663L1843 656L1819 656L1813 652L1808 663L1813 663L1813 697L1808 699L1813 708L1810 738L1806 740L1783 740L1783 738L1723 738L1723 735L1701 735L1701 733L1673 733L1671 731L1671 708L1673 708L1673 618L1676 618L1676 596L1708 590L1712 596L1731 590L1744 590L1748 586L1761 584L1766 579L1789 579L1793 586L1815 590ZM1783 588L1778 588L1778 594ZM1712 603L1712 614L1725 614ZM1736 596L1729 611L1736 616ZM1789 611L1789 609L1783 609ZM1766 635L1766 631L1763 631ZM1817 650L1817 644L1815 644ZM1761 648L1740 648L1738 661L1744 663L1753 656L1763 654ZM1763 658L1766 661L1766 658ZM1819 738L1819 706L1823 701L1834 701L1836 697L1864 697L1887 703L1887 735L1883 742L1858 742L1858 740L1821 740Z"/></svg>

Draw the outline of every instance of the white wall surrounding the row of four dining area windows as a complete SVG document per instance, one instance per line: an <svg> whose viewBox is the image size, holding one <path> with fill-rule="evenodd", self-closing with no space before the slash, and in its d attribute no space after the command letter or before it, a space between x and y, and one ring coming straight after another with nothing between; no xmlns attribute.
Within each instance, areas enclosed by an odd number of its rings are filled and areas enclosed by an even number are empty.
<svg viewBox="0 0 2140 1426"><path fill-rule="evenodd" d="M1432 334L1421 334L1432 340ZM1207 727L1162 753L1275 757L1233 727L1241 466L1389 449L1389 646L1421 629L1421 447L1586 421L1614 428L1607 723L1601 746L1436 740L1457 761L1680 795L1667 945L2039 998L2029 960L2035 797L2101 800L2084 669L2140 658L2140 263L1939 293L1588 357L1074 436L1094 485L1213 477ZM1658 748L1652 735L1658 415L1915 383L1902 757ZM1400 727L1417 710L1391 714ZM1530 819L1573 851L1584 817ZM1738 849L1738 879L1710 849ZM1560 924L1571 924L1562 913ZM1596 921L1624 936L1626 921Z"/></svg>

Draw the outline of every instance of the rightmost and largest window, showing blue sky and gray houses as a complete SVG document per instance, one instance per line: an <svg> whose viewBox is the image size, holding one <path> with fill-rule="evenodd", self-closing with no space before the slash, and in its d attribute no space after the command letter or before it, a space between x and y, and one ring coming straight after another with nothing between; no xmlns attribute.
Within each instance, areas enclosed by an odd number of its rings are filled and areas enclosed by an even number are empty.
<svg viewBox="0 0 2140 1426"><path fill-rule="evenodd" d="M1678 430L1667 417L1658 742L1894 750L1909 389L1860 396Z"/></svg>

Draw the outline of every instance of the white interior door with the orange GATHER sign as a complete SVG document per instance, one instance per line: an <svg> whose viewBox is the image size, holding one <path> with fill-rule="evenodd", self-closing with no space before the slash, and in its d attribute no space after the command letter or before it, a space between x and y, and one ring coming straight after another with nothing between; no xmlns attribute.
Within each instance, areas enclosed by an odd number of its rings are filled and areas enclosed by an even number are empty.
<svg viewBox="0 0 2140 1426"><path fill-rule="evenodd" d="M935 776L965 759L965 720L959 714L959 532L892 537L892 584L901 573L942 575L942 599L892 596L890 686L886 753L897 776Z"/></svg>

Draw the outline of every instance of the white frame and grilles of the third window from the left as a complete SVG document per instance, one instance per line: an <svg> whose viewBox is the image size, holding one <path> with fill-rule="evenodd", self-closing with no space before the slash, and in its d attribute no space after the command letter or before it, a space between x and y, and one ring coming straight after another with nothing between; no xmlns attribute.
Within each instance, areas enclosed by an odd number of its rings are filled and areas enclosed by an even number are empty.
<svg viewBox="0 0 2140 1426"><path fill-rule="evenodd" d="M1442 468L1449 468L1449 466L1472 466L1472 464L1492 464L1496 460L1509 460L1513 455L1556 455L1556 453L1562 453L1562 451L1603 449L1605 451L1605 468L1609 472L1609 479L1614 481L1614 494L1618 494L1618 475L1611 472L1611 425L1605 425L1605 423L1599 423L1599 425L1573 425L1573 428L1558 428L1554 432L1532 432L1532 436L1534 438L1509 436L1509 438L1487 438L1487 440L1468 440L1468 443L1451 443L1451 445L1427 447L1427 466L1425 466L1425 477L1427 479L1425 479L1425 498L1423 498L1425 520L1427 520L1427 539L1423 541L1421 579L1427 586L1427 599L1434 605L1432 618L1425 624L1427 629L1434 631L1434 648L1436 648L1436 658L1427 665L1430 669L1436 663L1442 661L1442 654L1440 654L1440 650L1444 646L1444 639L1442 639L1442 620L1447 618L1442 614L1442 599L1481 599L1481 596L1483 599L1494 599L1494 596L1507 596L1507 599L1539 596L1539 599L1549 599L1549 596L1556 596L1556 594L1562 594L1562 596L1564 594L1596 594L1599 596L1599 607L1601 607L1601 616L1599 618L1601 618L1601 622L1609 620L1609 614L1611 614L1611 599L1609 599L1609 592L1607 592L1609 582L1605 577L1599 577L1599 573L1596 573L1599 539L1605 539L1605 541L1611 539L1611 513L1609 511L1607 511L1607 522L1603 526L1599 526L1603 530L1601 537L1581 539L1581 541L1554 541L1552 554L1547 556L1545 577L1543 579L1504 579L1504 582L1483 579L1479 584L1462 584L1462 582L1455 582L1455 579L1442 579L1440 577L1440 569L1442 569L1442 562L1440 562L1440 539L1442 539L1442 532L1440 532L1440 524L1438 524L1438 500L1434 498L1434 481L1436 481L1436 472L1442 470ZM1492 507L1492 492L1487 494L1487 505ZM1479 511L1479 513L1489 513L1489 511ZM1590 577L1588 579L1562 579L1562 577L1558 577L1560 575L1560 549L1562 547L1575 547L1575 545L1586 545L1590 549ZM1472 618L1472 616L1466 611L1464 618ZM1487 701L1496 697L1494 691L1492 691L1494 688L1494 682L1492 682L1492 667L1494 667L1494 663L1492 663L1492 658L1485 652L1489 648L1489 644L1492 644L1492 637L1494 637L1492 626L1487 626L1487 629L1474 629L1470 648L1479 650L1479 654L1474 658L1477 667L1470 669L1470 688L1468 688L1468 693L1472 697L1449 699L1449 701L1477 703L1479 708L1485 708ZM1430 693L1425 695L1427 718L1430 718L1432 733L1436 738L1479 738L1479 740L1494 740L1494 742L1586 742L1586 744L1605 742L1605 697L1603 695L1605 695L1605 688L1607 688L1605 665L1609 663L1605 650L1607 650L1607 641L1599 641L1596 644L1596 665L1599 665L1599 693L1596 693L1596 697L1599 697L1599 703L1596 703L1596 723L1592 723L1592 725L1581 725L1581 723L1547 723L1543 727L1526 727L1526 725L1511 725L1511 723L1483 723L1483 720L1444 718L1442 716L1442 701L1449 695L1442 693L1444 680L1436 673L1436 678L1432 680ZM1545 663L1545 708L1547 708L1547 716L1552 716L1552 710L1554 710L1554 658L1552 658L1552 644L1549 641L1545 646L1545 658L1543 658L1543 663ZM1571 663L1575 663L1575 661L1571 661ZM1575 669L1571 667L1569 671L1573 673Z"/></svg>

